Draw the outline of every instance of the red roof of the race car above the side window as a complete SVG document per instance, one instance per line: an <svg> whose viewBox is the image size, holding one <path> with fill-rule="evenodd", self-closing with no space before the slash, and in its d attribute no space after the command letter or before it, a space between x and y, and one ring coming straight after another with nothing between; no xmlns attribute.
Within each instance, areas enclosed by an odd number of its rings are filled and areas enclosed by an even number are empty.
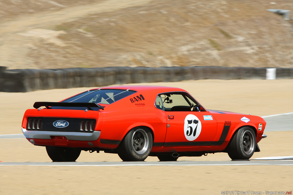
<svg viewBox="0 0 293 195"><path fill-rule="evenodd" d="M109 86L101 87L100 89L130 89L137 92L153 92L156 94L165 92L187 92L184 89L177 87L153 86L153 85L122 85L122 86Z"/></svg>

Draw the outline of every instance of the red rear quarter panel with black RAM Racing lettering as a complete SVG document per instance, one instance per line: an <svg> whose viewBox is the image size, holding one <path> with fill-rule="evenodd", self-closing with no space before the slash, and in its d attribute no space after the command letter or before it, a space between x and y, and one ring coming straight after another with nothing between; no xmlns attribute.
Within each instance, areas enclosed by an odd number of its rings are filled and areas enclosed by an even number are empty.
<svg viewBox="0 0 293 195"><path fill-rule="evenodd" d="M107 105L105 110L101 111L103 126L97 127L101 130L100 139L122 141L132 128L146 126L153 132L153 142L164 142L167 130L166 114L155 107L156 95L138 92Z"/></svg>

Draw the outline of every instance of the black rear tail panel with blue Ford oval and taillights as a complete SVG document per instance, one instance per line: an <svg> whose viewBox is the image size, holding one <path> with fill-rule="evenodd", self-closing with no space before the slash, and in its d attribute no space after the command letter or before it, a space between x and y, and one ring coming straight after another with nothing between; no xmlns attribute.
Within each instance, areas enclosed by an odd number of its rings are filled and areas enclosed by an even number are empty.
<svg viewBox="0 0 293 195"><path fill-rule="evenodd" d="M94 131L95 125L95 119L28 117L27 130L91 133Z"/></svg>

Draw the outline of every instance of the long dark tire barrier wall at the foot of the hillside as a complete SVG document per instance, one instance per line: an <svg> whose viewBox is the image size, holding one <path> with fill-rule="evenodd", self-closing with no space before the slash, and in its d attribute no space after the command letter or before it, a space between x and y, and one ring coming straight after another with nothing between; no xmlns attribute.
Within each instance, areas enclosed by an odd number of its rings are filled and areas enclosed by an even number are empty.
<svg viewBox="0 0 293 195"><path fill-rule="evenodd" d="M200 79L268 79L267 69L272 68L174 66L6 70L6 67L0 66L0 91L30 92L42 89L101 87L112 84ZM275 68L273 74L275 77L272 78L293 79L293 68Z"/></svg>

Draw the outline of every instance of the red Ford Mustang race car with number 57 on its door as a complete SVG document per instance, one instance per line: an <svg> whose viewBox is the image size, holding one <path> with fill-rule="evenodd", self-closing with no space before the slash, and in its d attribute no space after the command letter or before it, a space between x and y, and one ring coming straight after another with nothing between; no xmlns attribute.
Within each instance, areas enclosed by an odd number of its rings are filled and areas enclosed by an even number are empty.
<svg viewBox="0 0 293 195"><path fill-rule="evenodd" d="M249 159L266 137L263 118L207 110L175 87L101 87L33 107L25 111L23 134L46 146L52 161L76 161L81 150L117 153L123 161L216 152Z"/></svg>

